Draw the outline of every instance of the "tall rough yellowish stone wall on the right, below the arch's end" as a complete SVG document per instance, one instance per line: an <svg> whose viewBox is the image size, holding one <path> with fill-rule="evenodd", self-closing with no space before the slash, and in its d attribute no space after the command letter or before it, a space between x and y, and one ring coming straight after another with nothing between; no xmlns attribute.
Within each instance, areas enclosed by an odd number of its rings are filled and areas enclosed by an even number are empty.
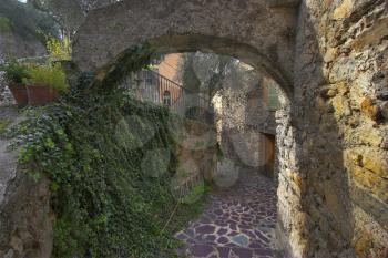
<svg viewBox="0 0 388 258"><path fill-rule="evenodd" d="M387 2L306 0L299 16L279 228L295 257L387 257Z"/></svg>

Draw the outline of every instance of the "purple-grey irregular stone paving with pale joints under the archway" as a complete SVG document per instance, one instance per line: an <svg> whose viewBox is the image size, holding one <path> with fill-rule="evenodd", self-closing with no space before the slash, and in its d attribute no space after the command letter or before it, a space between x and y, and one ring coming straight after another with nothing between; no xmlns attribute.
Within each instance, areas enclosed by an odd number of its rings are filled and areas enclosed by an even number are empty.
<svg viewBox="0 0 388 258"><path fill-rule="evenodd" d="M251 176L229 189L216 190L198 219L176 238L186 257L273 258L275 250L276 189L273 179Z"/></svg>

